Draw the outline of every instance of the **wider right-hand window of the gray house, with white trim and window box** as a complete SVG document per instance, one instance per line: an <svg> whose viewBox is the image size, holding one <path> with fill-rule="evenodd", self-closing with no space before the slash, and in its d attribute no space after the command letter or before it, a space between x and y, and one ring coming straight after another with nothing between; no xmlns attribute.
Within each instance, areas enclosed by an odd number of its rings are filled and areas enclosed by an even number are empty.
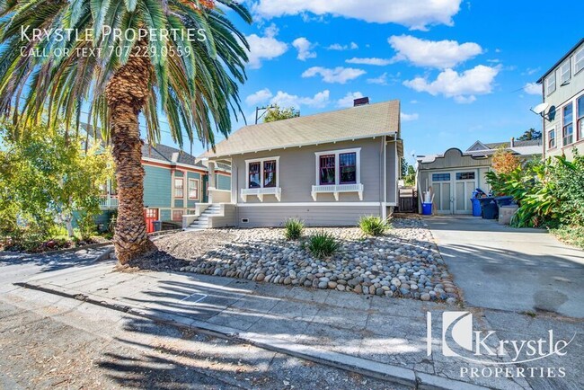
<svg viewBox="0 0 584 390"><path fill-rule="evenodd" d="M316 201L319 193L332 193L339 200L341 192L357 192L363 200L363 184L360 178L360 148L317 152L316 185L312 196Z"/></svg>

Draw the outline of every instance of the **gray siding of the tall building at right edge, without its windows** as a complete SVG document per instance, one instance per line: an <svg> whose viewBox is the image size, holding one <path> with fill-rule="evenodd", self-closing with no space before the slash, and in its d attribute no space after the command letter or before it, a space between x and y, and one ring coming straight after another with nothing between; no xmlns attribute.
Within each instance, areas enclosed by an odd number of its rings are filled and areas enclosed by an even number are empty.
<svg viewBox="0 0 584 390"><path fill-rule="evenodd" d="M584 45L580 46L583 47ZM560 67L563 65L556 67L553 70L553 74L555 74L555 91L553 93L547 94L547 91L544 91L544 102L550 104L550 106L555 107L555 117L552 120L544 120L544 146L545 146L545 154L546 155L562 155L564 153L568 158L572 156L572 149L577 147L580 154L584 154L584 140L580 140L580 142L576 144L571 144L568 146L562 145L562 108L566 106L566 104L571 103L574 98L584 92L584 69L580 70L579 73L574 75L574 55L576 54L575 50L571 57L568 58L571 62L571 80L570 83L562 85L562 75L560 74ZM550 74L552 75L552 74ZM550 76L547 75L544 79L544 85L546 85L546 79ZM574 142L576 142L576 107L574 107L573 111L574 115ZM553 149L548 149L548 131L555 127L555 144L556 147Z"/></svg>

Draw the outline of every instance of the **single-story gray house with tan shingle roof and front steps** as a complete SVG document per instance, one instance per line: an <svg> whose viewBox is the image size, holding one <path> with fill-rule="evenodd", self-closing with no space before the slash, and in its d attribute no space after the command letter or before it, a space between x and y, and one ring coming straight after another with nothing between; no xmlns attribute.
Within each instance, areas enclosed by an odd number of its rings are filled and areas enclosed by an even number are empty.
<svg viewBox="0 0 584 390"><path fill-rule="evenodd" d="M209 173L232 167L231 193L209 182L208 204L183 227L353 226L359 217L386 217L397 205L403 144L400 102L247 126L199 158ZM212 175L210 175L212 177Z"/></svg>

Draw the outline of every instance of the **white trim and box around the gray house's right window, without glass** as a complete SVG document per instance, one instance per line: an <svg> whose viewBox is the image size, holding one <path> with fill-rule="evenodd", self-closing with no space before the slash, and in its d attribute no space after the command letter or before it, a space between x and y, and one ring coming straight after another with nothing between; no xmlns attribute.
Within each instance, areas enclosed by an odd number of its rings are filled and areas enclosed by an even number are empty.
<svg viewBox="0 0 584 390"><path fill-rule="evenodd" d="M346 153L354 153L356 156L355 162L355 183L341 184L341 161L339 155ZM334 184L321 184L320 181L320 158L322 155L334 155ZM323 152L314 152L314 183L312 196L314 201L317 200L319 193L332 193L334 199L339 201L339 193L341 192L357 192L359 200L363 200L363 184L361 184L361 148L354 147L351 149L327 150Z"/></svg>

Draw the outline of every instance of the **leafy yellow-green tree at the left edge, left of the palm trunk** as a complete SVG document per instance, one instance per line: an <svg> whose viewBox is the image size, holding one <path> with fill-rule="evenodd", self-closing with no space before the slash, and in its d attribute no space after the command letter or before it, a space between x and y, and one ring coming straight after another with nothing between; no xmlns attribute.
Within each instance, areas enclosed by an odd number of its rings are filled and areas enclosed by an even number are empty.
<svg viewBox="0 0 584 390"><path fill-rule="evenodd" d="M18 238L26 226L44 239L51 227L64 224L73 236L74 212L78 222L94 225L93 217L101 212L100 186L113 175L111 155L97 146L84 153L81 138L67 140L62 127L31 126L18 138L12 128L0 126L0 191L10 194L2 197L1 234Z"/></svg>

